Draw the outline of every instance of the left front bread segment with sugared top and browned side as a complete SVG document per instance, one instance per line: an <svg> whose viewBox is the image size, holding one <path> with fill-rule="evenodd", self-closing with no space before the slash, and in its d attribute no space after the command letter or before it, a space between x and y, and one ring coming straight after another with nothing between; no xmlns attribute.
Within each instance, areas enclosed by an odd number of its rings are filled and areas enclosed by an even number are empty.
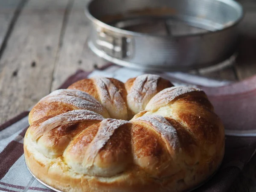
<svg viewBox="0 0 256 192"><path fill-rule="evenodd" d="M103 116L92 111L74 110L45 121L35 121L29 127L29 132L35 148L46 157L54 158L62 155L70 141L84 128L103 119Z"/></svg>

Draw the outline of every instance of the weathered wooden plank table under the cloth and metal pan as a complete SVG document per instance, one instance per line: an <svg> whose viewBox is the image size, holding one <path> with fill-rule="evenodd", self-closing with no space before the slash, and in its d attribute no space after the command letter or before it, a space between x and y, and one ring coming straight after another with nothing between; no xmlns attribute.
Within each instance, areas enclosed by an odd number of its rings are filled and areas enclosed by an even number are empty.
<svg viewBox="0 0 256 192"><path fill-rule="evenodd" d="M240 0L235 64L198 75L239 81L256 74L256 1ZM254 3L255 2L255 3ZM77 69L104 61L88 53L86 0L0 0L0 124L35 105ZM230 192L256 191L256 157Z"/></svg>

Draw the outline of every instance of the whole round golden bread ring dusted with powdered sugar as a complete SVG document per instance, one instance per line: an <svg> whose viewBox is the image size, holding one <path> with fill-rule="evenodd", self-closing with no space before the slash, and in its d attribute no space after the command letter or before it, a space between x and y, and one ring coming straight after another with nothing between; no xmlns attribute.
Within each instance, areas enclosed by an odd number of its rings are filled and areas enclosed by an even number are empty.
<svg viewBox="0 0 256 192"><path fill-rule="evenodd" d="M26 164L62 191L181 192L224 155L224 127L206 94L157 75L78 81L41 99L29 123Z"/></svg>

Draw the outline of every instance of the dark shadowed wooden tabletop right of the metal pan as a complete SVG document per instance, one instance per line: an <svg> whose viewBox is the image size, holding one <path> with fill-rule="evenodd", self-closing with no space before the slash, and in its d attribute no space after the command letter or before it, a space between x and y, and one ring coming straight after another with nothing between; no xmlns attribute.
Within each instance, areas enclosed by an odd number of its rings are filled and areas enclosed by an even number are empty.
<svg viewBox="0 0 256 192"><path fill-rule="evenodd" d="M256 74L256 1L238 0L243 5L245 16L239 24L238 58L236 63L221 70L200 73L215 79L241 80Z"/></svg>

